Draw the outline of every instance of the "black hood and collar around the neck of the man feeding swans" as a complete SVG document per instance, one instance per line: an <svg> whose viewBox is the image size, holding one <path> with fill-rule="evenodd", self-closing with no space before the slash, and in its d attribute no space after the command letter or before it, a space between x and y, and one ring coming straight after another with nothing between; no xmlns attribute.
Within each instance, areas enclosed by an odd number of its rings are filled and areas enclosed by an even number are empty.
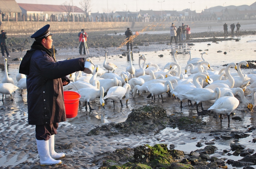
<svg viewBox="0 0 256 169"><path fill-rule="evenodd" d="M47 53L47 55L52 57L52 52L49 49L46 49L42 43L34 41L34 43L31 46L30 50L27 50L26 55L23 57L21 63L20 63L20 69L19 69L19 73L25 74L25 75L29 75L29 65L30 65L30 59L31 56L33 55L33 53L36 50L42 50L44 52ZM55 60L55 59L54 59Z"/></svg>

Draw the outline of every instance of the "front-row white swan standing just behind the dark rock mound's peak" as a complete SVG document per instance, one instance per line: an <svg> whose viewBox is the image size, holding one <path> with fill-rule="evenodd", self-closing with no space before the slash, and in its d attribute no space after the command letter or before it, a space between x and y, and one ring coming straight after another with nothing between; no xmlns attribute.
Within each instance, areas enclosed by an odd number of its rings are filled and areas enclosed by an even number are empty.
<svg viewBox="0 0 256 169"><path fill-rule="evenodd" d="M163 99L163 93L165 92L169 92L170 87L172 86L170 81L166 81L164 84L163 83L151 83L147 86L148 88L148 92L150 92L150 94L148 95L148 99L151 97L151 103L153 103L153 96L156 95L161 95L162 98L162 102L164 102Z"/></svg>

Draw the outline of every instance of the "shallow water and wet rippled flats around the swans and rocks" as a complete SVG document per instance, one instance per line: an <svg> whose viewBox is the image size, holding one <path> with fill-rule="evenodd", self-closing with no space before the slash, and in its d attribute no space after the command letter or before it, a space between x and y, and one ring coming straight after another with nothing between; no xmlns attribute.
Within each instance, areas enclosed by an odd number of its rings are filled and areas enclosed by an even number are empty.
<svg viewBox="0 0 256 169"><path fill-rule="evenodd" d="M208 61L211 67L215 70L220 70L223 64L228 64L230 62L238 63L244 60L256 60L255 59L255 45L256 45L256 36L245 36L245 37L235 37L239 38L240 41L236 42L235 40L228 41L220 41L219 43L213 42L202 42L195 43L194 46L189 46L187 44L181 46L170 46L166 44L154 44L149 46L139 47L138 49L134 49L133 53L133 66L135 69L139 68L138 59L139 55L144 54L147 57L147 63L153 62L156 63L160 69L164 67L167 62L173 62L173 57L170 54L171 51L177 50L182 54L177 54L176 59L181 66L181 73L185 73L184 68L187 64L189 54L188 51L191 51L192 57L201 57L201 53L208 49L206 52L208 55L204 55L204 59ZM211 44L211 45L208 45ZM123 47L122 49L125 49ZM77 49L73 49L77 50ZM74 55L74 51L71 50L69 53L66 50L59 50L58 56L61 55L70 55L72 57L80 57L80 55ZM122 71L125 71L126 67L129 66L129 62L127 61L126 56L120 57L123 53L120 49L117 48L108 48L108 61L114 62L118 69L115 70L117 74L120 74ZM199 51L203 50L203 51ZM217 51L221 50L222 52L217 53ZM138 53L140 51L140 53ZM184 53L186 51L187 53ZM223 52L227 52L227 55L224 55ZM104 61L104 53L100 53L98 50L90 49L91 55L100 55L98 57L93 57L92 61L95 65L100 65L102 68L102 64ZM158 55L163 55L163 57L159 57ZM113 57L112 57L113 56ZM18 73L19 64L10 64L8 67L9 77L12 77L14 80L14 84L17 84L16 74ZM252 73L255 71L254 69L242 69L242 71L246 74ZM231 73L236 72L234 69L230 69ZM188 73L188 75L190 75ZM4 77L4 71L0 70L0 78ZM250 94L250 91L247 89L245 92L246 95ZM23 96L20 95L20 89L18 89L15 93L13 93L14 101L10 101L10 96L4 97L4 101L0 102L0 132L1 139L3 140L1 143L1 147L3 150L0 151L0 166L8 166L8 165L20 165L22 162L27 161L29 163L34 164L35 159L37 159L38 163L38 155L35 152L35 143L31 137L34 137L35 128L34 126L27 125L27 98L26 91L23 92ZM96 99L95 103L92 103L91 106L95 110L92 111L91 114L85 111L84 103L82 103L78 110L78 115L75 118L68 119L66 122L60 123L60 131L66 131L67 136L61 135L60 132L60 143L70 143L71 142L81 142L82 139L86 140L88 143L84 143L85 148L79 149L77 151L68 150L66 152L67 161L63 158L63 163L68 163L68 157L72 157L73 154L80 154L86 156L84 159L83 165L89 165L90 160L95 154L102 152L111 152L116 148L123 147L136 147L141 144L149 144L154 145L157 143L166 143L166 144L175 144L176 149L182 150L185 152L195 151L200 149L196 147L197 142L209 142L214 140L215 146L218 147L216 153L211 156L216 156L218 158L226 157L228 159L238 160L242 157L236 156L226 156L222 155L222 151L224 149L230 150L230 143L233 142L231 140L215 140L213 136L208 136L211 130L217 129L227 129L228 128L228 120L227 118L223 119L222 124L220 124L220 119L215 119L212 116L203 116L203 121L207 123L206 126L203 127L202 133L191 133L186 131L180 131L179 129L171 129L166 128L160 131L157 134L149 133L148 135L133 135L133 136L117 136L113 138L107 138L105 136L84 136L83 138L76 138L76 135L82 133L87 133L91 129L95 128L98 125L102 125L101 120L99 118L100 114L105 114L106 119L109 122L122 122L125 121L128 114L132 111L133 108L138 108L143 105L151 104L151 99L147 99L146 96L148 94L145 93L143 96L136 96L134 99L130 93L130 99L128 104L125 105L123 100L124 107L120 106L119 102L116 102L115 108L113 107L113 102L110 100L105 101L105 109L100 106L99 99ZM238 97L239 98L239 97ZM250 99L250 96L248 97ZM168 98L164 95L165 102L162 103L161 99L156 98L153 105L160 105L164 109L166 109L167 115L171 115L175 112L182 111L186 116L198 116L196 113L196 107L187 107L187 103L183 102L183 108L180 109L180 101L174 100L173 98ZM211 103L203 103L204 108L209 108ZM242 118L242 121L234 121L230 122L230 130L241 130L246 131L248 126L255 126L255 111L248 111L246 107L243 105L239 105L237 109L234 111L236 116ZM69 130L73 129L74 132L70 133ZM79 131L83 130L83 131ZM62 133L63 134L63 133ZM250 134L249 137L239 139L239 143L243 144L247 148L251 148L256 150L255 143L252 142L252 139L255 138L255 131ZM58 137L57 137L58 138ZM160 138L160 140L159 140ZM193 139L192 139L193 138ZM158 141L159 140L159 141ZM80 143L79 142L79 143ZM83 142L82 142L83 143ZM20 148L19 148L20 147ZM204 147L204 146L203 146ZM201 148L203 148L201 147ZM26 152L26 153L24 153ZM233 153L233 152L230 152ZM15 155L19 154L19 156ZM29 154L29 155L27 155ZM36 157L36 158L35 158ZM76 160L76 159L73 159ZM79 161L79 159L78 159ZM228 165L229 168L233 168L231 165ZM254 166L255 167L255 166ZM98 168L89 167L89 168Z"/></svg>

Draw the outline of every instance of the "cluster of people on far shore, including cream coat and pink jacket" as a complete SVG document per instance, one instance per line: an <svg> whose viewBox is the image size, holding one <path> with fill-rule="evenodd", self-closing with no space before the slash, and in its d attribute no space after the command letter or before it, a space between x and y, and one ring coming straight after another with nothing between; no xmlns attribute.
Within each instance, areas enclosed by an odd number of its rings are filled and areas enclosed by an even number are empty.
<svg viewBox="0 0 256 169"><path fill-rule="evenodd" d="M182 26L179 26L178 28L175 26L174 23L172 23L172 26L170 27L170 35L171 35L171 44L172 39L175 40L175 43L178 43L179 41L186 41L190 38L190 27L188 25L185 25L182 23Z"/></svg>

